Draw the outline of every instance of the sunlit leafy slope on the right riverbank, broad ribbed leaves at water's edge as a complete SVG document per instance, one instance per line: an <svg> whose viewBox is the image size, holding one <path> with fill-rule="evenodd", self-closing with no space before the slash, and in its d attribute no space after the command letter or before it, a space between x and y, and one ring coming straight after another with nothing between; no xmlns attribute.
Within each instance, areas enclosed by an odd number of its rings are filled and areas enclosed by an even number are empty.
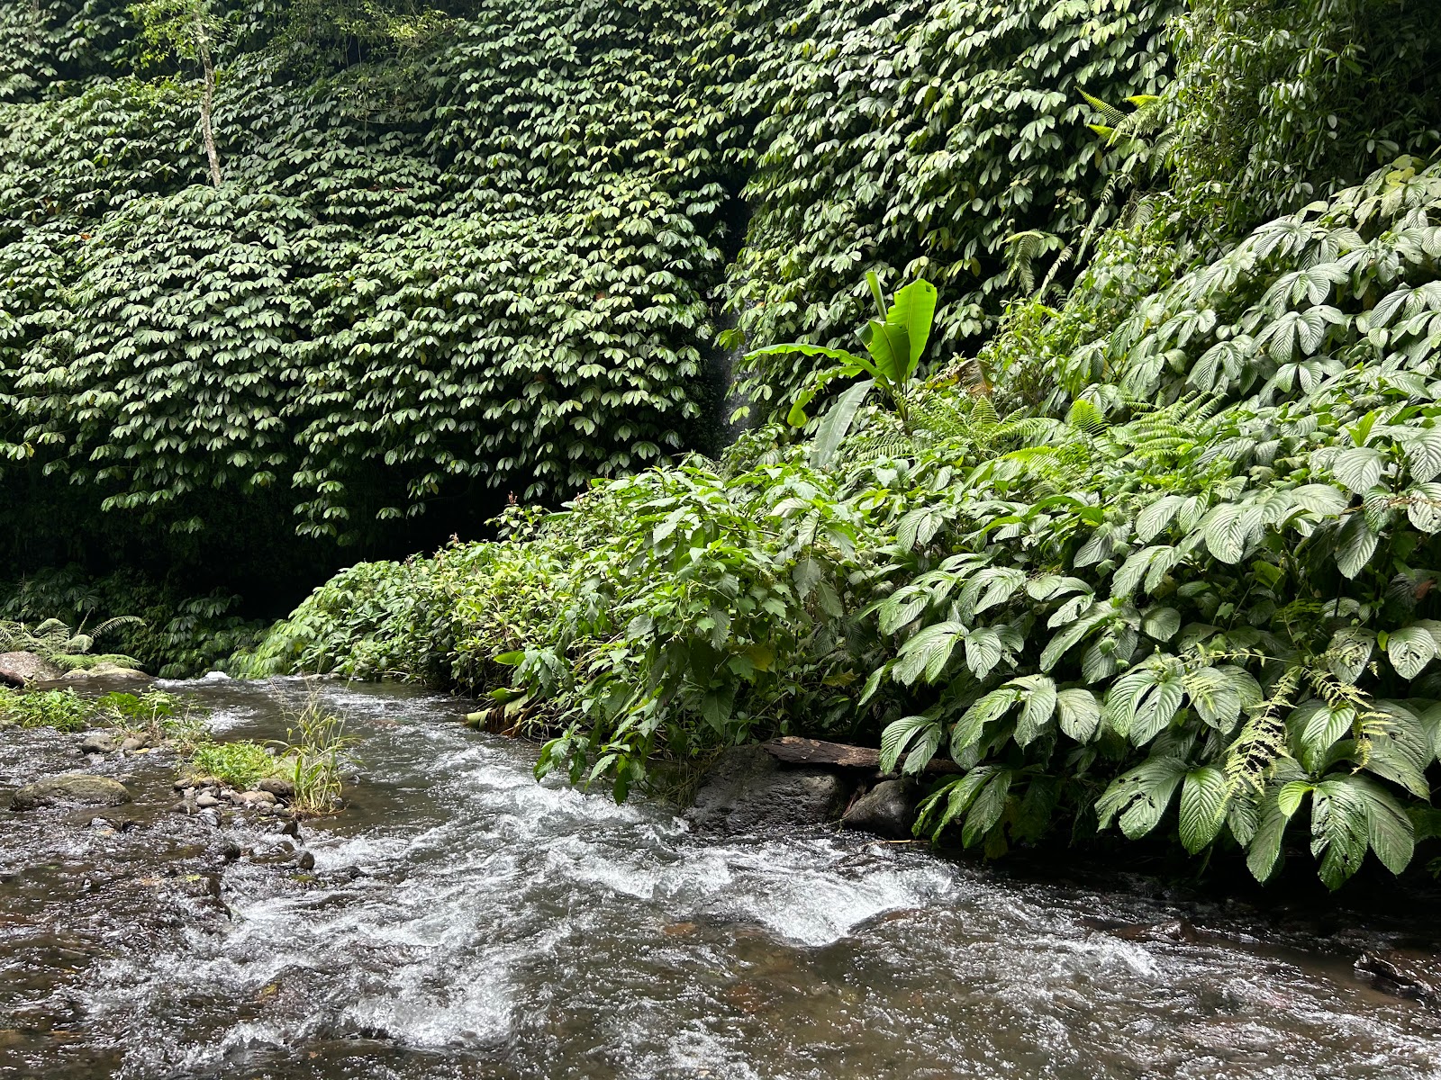
<svg viewBox="0 0 1441 1080"><path fill-rule="evenodd" d="M1016 252L978 351L942 310L905 419L513 508L244 661L493 691L542 772L617 796L804 732L950 756L922 829L989 854L1118 829L1261 880L1295 841L1331 887L1399 873L1438 824L1435 14L1195 4L1177 78L1094 105L1112 223Z"/></svg>

